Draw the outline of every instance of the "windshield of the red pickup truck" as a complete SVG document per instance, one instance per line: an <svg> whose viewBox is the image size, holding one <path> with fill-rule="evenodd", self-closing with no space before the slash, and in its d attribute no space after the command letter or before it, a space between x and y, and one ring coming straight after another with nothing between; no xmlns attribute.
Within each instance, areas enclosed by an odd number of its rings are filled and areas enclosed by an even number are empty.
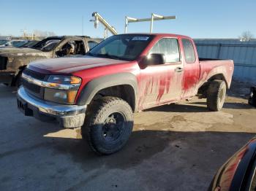
<svg viewBox="0 0 256 191"><path fill-rule="evenodd" d="M88 55L102 58L112 58L133 61L153 39L147 34L121 34L110 36L104 42L94 47Z"/></svg>

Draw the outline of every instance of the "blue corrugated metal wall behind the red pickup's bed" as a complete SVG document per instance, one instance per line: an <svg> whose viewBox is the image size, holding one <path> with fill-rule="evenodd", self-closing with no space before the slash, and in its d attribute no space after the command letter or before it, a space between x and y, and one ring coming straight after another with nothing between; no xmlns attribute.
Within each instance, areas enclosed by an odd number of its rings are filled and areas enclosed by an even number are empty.
<svg viewBox="0 0 256 191"><path fill-rule="evenodd" d="M256 82L256 41L238 39L195 39L200 58L232 59L233 78L242 82Z"/></svg>

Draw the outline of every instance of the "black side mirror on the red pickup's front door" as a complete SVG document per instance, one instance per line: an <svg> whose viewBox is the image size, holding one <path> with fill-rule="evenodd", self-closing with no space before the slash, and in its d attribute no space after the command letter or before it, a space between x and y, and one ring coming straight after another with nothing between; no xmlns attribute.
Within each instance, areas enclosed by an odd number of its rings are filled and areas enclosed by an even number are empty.
<svg viewBox="0 0 256 191"><path fill-rule="evenodd" d="M165 64L165 55L163 54L151 54L147 55L140 61L143 68L146 66L162 65Z"/></svg>

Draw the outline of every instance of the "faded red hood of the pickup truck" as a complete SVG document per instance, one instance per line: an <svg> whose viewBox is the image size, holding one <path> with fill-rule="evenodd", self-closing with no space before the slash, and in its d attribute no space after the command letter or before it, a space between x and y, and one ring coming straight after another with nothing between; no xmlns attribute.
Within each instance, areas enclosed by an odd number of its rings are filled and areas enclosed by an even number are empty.
<svg viewBox="0 0 256 191"><path fill-rule="evenodd" d="M28 68L45 74L72 74L76 71L82 71L85 69L128 62L129 61L120 61L110 58L83 56L75 58L50 58L34 61L29 64Z"/></svg>

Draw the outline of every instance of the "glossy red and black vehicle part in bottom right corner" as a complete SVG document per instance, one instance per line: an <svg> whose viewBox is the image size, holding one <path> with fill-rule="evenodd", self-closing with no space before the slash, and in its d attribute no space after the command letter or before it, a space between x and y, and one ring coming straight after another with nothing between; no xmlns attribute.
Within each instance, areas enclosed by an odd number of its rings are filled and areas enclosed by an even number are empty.
<svg viewBox="0 0 256 191"><path fill-rule="evenodd" d="M219 168L209 191L255 191L256 190L256 138L230 157Z"/></svg>

